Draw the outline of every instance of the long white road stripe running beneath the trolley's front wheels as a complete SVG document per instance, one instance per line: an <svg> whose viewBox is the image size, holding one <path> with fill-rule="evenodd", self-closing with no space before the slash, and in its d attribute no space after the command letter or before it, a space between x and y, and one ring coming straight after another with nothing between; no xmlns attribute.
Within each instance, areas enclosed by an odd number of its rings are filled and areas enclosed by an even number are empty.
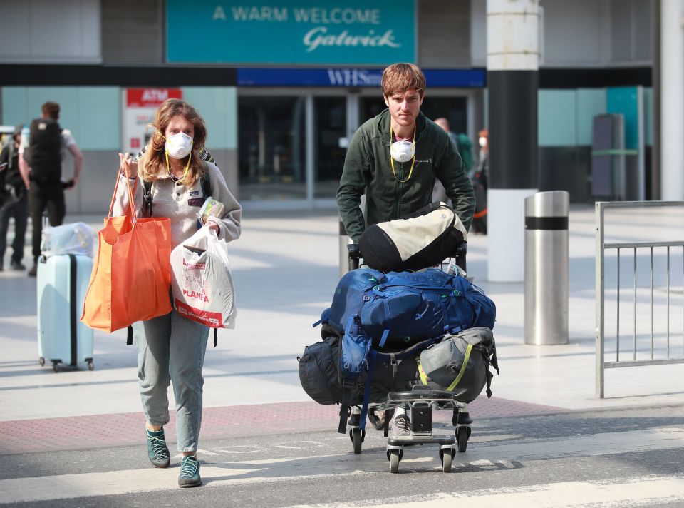
<svg viewBox="0 0 684 508"><path fill-rule="evenodd" d="M672 448L684 449L684 429L655 427L628 432L606 432L596 435L561 437L556 440L492 444L482 447L475 444L472 449L469 447L468 452L458 453L455 462L458 462L457 468L482 467L483 470L487 470L501 467L499 464L514 465L514 462L524 459L553 459ZM437 457L437 447L407 448L404 457L400 463L400 471L402 472L441 469L440 459ZM0 492L4 493L0 498L0 504L176 489L177 464L174 466L170 469L150 467L128 471L4 479L0 480ZM385 450L375 447L368 449L361 455L344 453L207 463L202 464L201 474L207 487L222 487L265 482L292 482L336 477L339 474L388 472L388 469ZM670 479L667 482L669 486L671 484ZM666 492L670 492L670 490ZM677 492L684 496L684 485L678 484ZM520 492L518 493L520 494ZM541 494L534 495L541 496ZM416 503L423 503L423 500L416 500ZM526 503L527 501L524 500L516 502L513 506L537 506L537 504ZM426 505L420 504L420 506ZM436 504L435 506L439 505ZM485 506L480 504L479 498L477 506ZM556 506L564 505L558 504Z"/></svg>

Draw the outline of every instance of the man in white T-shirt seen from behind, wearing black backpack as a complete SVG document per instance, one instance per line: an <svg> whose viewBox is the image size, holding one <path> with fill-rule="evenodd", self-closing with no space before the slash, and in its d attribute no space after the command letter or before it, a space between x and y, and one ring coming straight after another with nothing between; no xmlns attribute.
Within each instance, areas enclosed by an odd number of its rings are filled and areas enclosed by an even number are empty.
<svg viewBox="0 0 684 508"><path fill-rule="evenodd" d="M28 189L28 208L31 213L33 268L29 277L35 277L38 257L41 255L43 212L48 211L51 226L61 225L66 215L64 189L78 184L83 168L83 153L71 131L59 126L59 104L46 102L42 116L31 121L28 145L22 140L19 146L19 171ZM69 151L73 156L73 178L62 181L62 161Z"/></svg>

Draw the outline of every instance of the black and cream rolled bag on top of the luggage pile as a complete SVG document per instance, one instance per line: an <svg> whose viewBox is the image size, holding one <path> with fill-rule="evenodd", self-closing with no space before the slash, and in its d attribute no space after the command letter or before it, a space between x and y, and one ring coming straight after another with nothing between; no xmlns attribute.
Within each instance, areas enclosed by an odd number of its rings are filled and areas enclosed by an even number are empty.
<svg viewBox="0 0 684 508"><path fill-rule="evenodd" d="M467 238L454 210L445 203L431 203L410 215L368 226L358 248L364 263L375 270L423 270L449 258Z"/></svg>

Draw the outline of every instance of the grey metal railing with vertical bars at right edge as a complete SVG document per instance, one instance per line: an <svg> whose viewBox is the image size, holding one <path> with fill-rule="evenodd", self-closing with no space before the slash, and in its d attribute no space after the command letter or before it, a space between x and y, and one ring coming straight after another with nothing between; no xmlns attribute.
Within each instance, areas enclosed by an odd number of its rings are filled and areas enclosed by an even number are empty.
<svg viewBox="0 0 684 508"><path fill-rule="evenodd" d="M672 288L670 287L670 268L674 266L671 264L671 250L673 248L682 248L679 253L681 259L676 261L677 265L681 266L684 270L684 239L675 241L645 241L645 242L626 242L626 243L606 243L605 242L605 211L606 208L662 208L662 207L684 207L684 201L617 201L617 202L597 202L596 203L596 397L603 398L604 396L604 385L605 385L605 370L616 368L616 367L637 367L641 365L663 365L670 363L684 363L684 326L682 331L682 336L678 339L678 344L681 344L682 355L678 357L673 357L671 353L673 352L670 348L670 295ZM679 223L680 227L684 231L684 224ZM637 228L637 225L634 226ZM684 238L684 235L682 235ZM655 335L653 329L654 322L654 300L653 300L653 249L660 248L665 249L665 293L666 300L665 306L667 312L665 313L665 323L666 323L666 333L665 333L665 344L664 351L660 351L660 355L665 357L655 358L654 357L654 345L655 345ZM650 316L651 316L651 335L650 341L644 346L644 337L640 337L638 340L637 334L637 302L638 291L637 291L637 250L638 249L648 249L646 252L649 254L649 270L650 275L650 299L646 295L646 301L650 304ZM615 361L606 362L606 251L616 250L616 342L615 342ZM632 325L632 337L631 337L631 351L628 350L628 359L625 360L625 352L620 349L620 305L621 305L621 277L620 277L620 259L621 250L628 250L632 254L633 259L633 271L632 271L632 313L633 319L631 320ZM643 250L641 251L643 252ZM658 268L660 265L656 265ZM684 271L683 271L684 273ZM684 275L683 275L684 276ZM684 282L681 292L684 295ZM641 291L640 293L643 293ZM643 298L641 298L641 303L643 305ZM678 307L681 310L681 314L684 317L684 303L679 304ZM658 316L660 320L663 316ZM648 337L646 337L648 340ZM649 345L650 344L650 345ZM641 355L637 357L638 346L641 346ZM658 344L660 347L660 344ZM662 349L662 347L661 347ZM646 352L650 352L648 357L643 358ZM621 360L621 353L623 359Z"/></svg>

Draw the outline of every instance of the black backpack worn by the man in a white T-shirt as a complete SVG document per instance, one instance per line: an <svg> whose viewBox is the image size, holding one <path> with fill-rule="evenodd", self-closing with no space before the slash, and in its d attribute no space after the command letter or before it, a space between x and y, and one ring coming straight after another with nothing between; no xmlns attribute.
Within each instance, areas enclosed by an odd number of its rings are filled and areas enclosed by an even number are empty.
<svg viewBox="0 0 684 508"><path fill-rule="evenodd" d="M29 178L38 183L58 182L62 176L62 128L53 118L36 118L29 127Z"/></svg>

